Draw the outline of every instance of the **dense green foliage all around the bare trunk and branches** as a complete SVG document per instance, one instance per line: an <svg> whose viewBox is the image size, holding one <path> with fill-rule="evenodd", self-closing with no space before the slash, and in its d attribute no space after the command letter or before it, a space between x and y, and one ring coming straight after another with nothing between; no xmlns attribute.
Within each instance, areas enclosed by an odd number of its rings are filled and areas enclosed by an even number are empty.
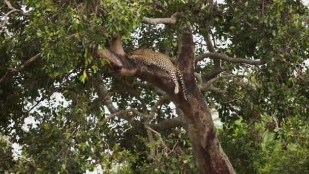
<svg viewBox="0 0 309 174"><path fill-rule="evenodd" d="M109 173L198 173L184 128L153 131L149 142L144 119L134 113L124 115L132 122L115 117L101 124L113 109L147 113L161 94L139 79L115 76L108 61L92 54L119 35L127 50L176 57L179 28L190 22L197 55L209 52L211 36L218 52L266 62L223 61L230 78L212 85L227 93L203 91L223 122L217 131L237 173L309 173L309 17L301 1L168 0L153 1L161 5L153 8L148 0L11 0L26 14L8 18L6 2L0 2L0 78L40 58L0 82L0 134L10 137L0 139L0 172L84 173L100 166ZM142 22L175 12L186 15L173 25ZM211 67L201 60L196 72ZM150 123L177 115L165 101ZM12 143L21 147L15 159Z"/></svg>

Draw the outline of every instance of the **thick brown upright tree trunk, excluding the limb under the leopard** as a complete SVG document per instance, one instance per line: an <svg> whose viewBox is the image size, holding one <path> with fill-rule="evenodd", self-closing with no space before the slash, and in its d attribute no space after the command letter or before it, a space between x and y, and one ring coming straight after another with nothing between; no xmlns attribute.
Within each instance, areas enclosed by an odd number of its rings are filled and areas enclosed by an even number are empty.
<svg viewBox="0 0 309 174"><path fill-rule="evenodd" d="M192 31L191 27L187 27L179 35L178 59L189 97L188 101L181 101L178 104L188 123L196 163L203 173L235 173L220 146L207 102L196 84L194 57Z"/></svg>

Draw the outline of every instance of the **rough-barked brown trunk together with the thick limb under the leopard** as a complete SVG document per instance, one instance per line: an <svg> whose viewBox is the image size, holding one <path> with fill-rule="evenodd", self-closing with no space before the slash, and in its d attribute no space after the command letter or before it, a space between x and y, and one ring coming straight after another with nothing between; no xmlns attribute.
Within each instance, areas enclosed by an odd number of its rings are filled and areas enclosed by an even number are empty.
<svg viewBox="0 0 309 174"><path fill-rule="evenodd" d="M114 45L113 48L119 47ZM121 50L96 50L99 56L111 62L114 73L121 76L139 77L152 83L165 91L176 107L182 110L187 122L185 127L193 143L196 163L203 173L235 173L229 159L221 149L209 108L195 81L196 60L191 27L182 31L178 46L179 69L182 71L188 90L188 100L184 100L182 90L174 94L174 83L165 71L154 65L146 66L127 54L120 55L121 52ZM164 130L161 127L162 124L164 123L150 126L157 130ZM184 125L180 120L175 124L167 121L166 124L170 127Z"/></svg>

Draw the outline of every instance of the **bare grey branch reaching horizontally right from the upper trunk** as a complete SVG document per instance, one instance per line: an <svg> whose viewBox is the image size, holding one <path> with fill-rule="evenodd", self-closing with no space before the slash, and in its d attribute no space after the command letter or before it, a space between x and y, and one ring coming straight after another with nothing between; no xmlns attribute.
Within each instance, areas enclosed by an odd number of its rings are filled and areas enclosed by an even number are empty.
<svg viewBox="0 0 309 174"><path fill-rule="evenodd" d="M224 60L227 62L242 63L242 64L249 64L249 65L263 65L266 63L264 61L256 61L256 60L230 57L226 54L222 54L219 52L208 52L208 53L201 54L199 56L196 56L196 61L201 61L206 57L213 57L213 58L217 58L217 59Z"/></svg>

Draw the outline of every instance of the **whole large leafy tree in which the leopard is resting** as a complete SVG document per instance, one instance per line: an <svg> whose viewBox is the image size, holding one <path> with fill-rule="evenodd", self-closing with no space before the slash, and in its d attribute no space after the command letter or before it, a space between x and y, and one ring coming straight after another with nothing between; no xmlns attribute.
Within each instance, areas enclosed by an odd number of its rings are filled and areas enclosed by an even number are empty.
<svg viewBox="0 0 309 174"><path fill-rule="evenodd" d="M5 0L0 130L22 145L10 165L235 173L211 109L226 125L263 114L277 128L291 115L307 121L307 14L301 1ZM165 71L128 54L144 48L172 57L188 100Z"/></svg>

